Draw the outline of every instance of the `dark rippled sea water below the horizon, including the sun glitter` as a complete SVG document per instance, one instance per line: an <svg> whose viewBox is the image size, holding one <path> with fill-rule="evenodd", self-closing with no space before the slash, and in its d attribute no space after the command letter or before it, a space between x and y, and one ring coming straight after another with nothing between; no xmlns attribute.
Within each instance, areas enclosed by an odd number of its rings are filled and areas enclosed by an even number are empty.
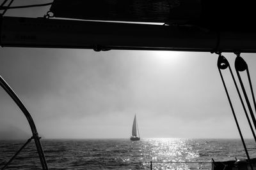
<svg viewBox="0 0 256 170"><path fill-rule="evenodd" d="M42 139L49 169L211 169L211 162L246 159L239 139ZM0 169L26 140L0 140ZM246 140L250 157L255 141ZM172 162L172 163L170 163ZM8 169L41 169L34 141Z"/></svg>

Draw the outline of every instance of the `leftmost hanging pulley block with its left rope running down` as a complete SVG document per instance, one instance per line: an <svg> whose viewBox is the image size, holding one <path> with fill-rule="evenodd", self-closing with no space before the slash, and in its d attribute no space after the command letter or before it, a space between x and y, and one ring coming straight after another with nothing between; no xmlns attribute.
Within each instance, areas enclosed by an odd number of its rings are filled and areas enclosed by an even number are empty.
<svg viewBox="0 0 256 170"><path fill-rule="evenodd" d="M248 159L248 162L250 164L250 167L251 169L253 170L253 166L251 164L251 160L250 160L250 156L249 156L249 153L248 153L248 150L246 148L246 145L244 143L244 138L243 138L243 134L241 132L241 129L239 127L239 124L238 124L238 121L237 121L237 118L236 118L236 113L234 111L234 108L233 108L233 105L232 105L232 102L230 100L230 96L228 94L228 90L227 90L227 86L225 84L225 81L224 81L224 78L223 78L223 75L221 73L221 69L227 69L227 67L229 66L229 63L228 63L228 60L223 56L221 55L221 53L219 53L219 58L218 58L218 70L219 70L219 73L220 73L220 76L221 76L221 80L222 80L222 83L223 83L223 86L224 86L224 89L225 89L225 92L227 94L227 97L228 97L228 103L230 104L230 108L232 110L232 114L234 116L234 119L235 119L235 122L236 122L236 126L237 126L237 130L239 131L239 135L240 135L240 138L242 140L242 143L243 143L243 146L244 146L244 151L246 153L246 157Z"/></svg>

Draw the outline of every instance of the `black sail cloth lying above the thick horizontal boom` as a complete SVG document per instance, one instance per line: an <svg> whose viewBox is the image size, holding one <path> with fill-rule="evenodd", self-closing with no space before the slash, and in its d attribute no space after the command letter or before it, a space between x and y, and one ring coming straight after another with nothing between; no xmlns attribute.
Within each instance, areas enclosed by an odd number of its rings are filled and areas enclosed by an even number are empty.
<svg viewBox="0 0 256 170"><path fill-rule="evenodd" d="M192 24L228 31L256 29L253 1L54 0L50 10L60 18Z"/></svg>

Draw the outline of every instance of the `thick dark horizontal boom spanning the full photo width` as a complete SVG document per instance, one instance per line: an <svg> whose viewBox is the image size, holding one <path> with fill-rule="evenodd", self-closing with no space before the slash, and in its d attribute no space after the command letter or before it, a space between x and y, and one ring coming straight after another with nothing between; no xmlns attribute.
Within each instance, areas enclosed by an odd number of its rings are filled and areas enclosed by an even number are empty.
<svg viewBox="0 0 256 170"><path fill-rule="evenodd" d="M1 46L104 50L256 52L256 31L209 30L196 25L149 25L2 17Z"/></svg>

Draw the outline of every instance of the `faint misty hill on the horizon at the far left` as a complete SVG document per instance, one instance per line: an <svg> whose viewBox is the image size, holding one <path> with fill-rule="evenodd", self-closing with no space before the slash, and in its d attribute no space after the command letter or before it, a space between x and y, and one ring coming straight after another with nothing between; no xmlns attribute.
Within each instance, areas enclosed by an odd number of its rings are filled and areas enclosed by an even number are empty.
<svg viewBox="0 0 256 170"><path fill-rule="evenodd" d="M32 136L29 132L24 132L21 129L9 126L7 129L0 129L0 139L1 140L13 140L13 139L28 139Z"/></svg>

